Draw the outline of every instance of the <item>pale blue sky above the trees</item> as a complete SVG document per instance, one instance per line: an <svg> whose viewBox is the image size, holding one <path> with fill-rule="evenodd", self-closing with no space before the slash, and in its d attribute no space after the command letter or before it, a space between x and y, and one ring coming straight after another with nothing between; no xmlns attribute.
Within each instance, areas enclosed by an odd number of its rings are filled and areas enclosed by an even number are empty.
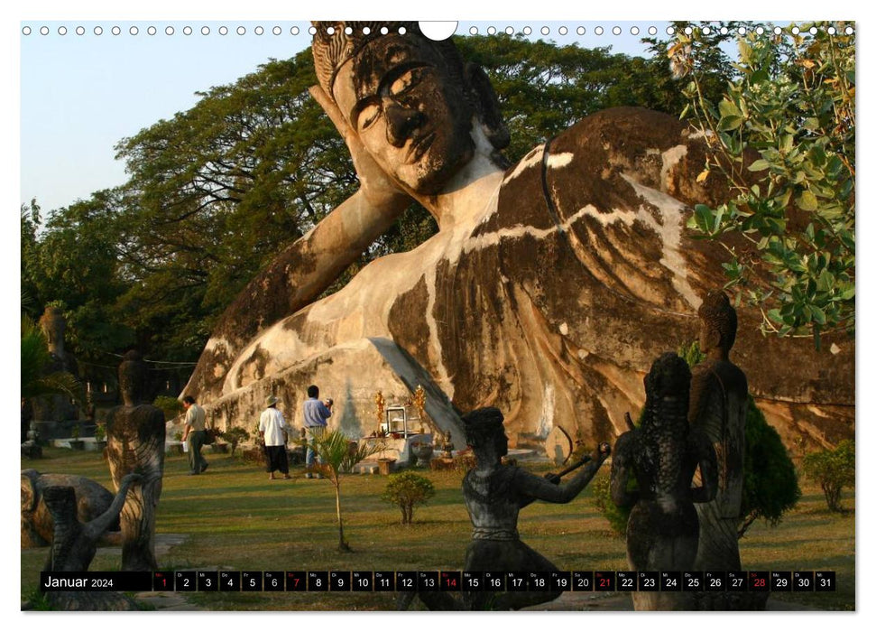
<svg viewBox="0 0 876 632"><path fill-rule="evenodd" d="M529 27L532 39L641 55L641 37L649 27L663 33L666 23L463 22L456 33L470 33L473 26L482 34L490 27L515 33ZM222 27L226 34L220 33ZM256 33L258 27L262 34ZM124 164L115 161L113 149L119 140L192 107L198 90L231 83L270 58L284 59L306 48L308 27L283 21L23 22L21 202L36 198L48 211L123 183ZM567 29L565 36L560 27ZM638 35L631 33L633 27ZM297 35L291 34L293 28ZM612 33L615 28L620 34Z"/></svg>

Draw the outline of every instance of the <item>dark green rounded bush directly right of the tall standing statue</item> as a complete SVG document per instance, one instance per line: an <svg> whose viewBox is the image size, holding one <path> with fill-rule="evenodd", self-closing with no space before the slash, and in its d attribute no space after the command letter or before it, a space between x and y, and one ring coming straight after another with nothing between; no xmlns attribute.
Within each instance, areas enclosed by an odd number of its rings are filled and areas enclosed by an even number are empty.
<svg viewBox="0 0 876 632"><path fill-rule="evenodd" d="M800 488L797 471L779 432L767 423L761 410L748 398L745 418L745 481L742 486L742 526L739 536L758 518L778 525L785 514L797 506Z"/></svg>

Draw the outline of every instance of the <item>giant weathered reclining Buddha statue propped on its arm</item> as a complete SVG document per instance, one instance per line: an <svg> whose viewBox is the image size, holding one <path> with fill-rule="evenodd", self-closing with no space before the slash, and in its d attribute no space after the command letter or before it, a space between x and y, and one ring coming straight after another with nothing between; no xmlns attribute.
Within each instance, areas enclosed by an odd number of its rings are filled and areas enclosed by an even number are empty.
<svg viewBox="0 0 876 632"><path fill-rule="evenodd" d="M696 181L703 138L672 116L616 108L508 168L484 71L416 23L380 26L318 23L313 42L311 93L344 136L360 190L244 289L184 395L235 423L267 395L299 410L300 385L319 384L351 394L337 402L343 417L370 407L374 384L406 393L369 343L386 338L461 408L507 411L512 445L539 445L553 419L585 441L616 436L641 406L651 358L693 339L699 297L723 283L724 249L685 228L691 205L728 195L715 173ZM316 300L413 200L438 234ZM741 318L754 328L760 314ZM743 344L760 392L799 404L780 416L800 423L808 404L853 403L852 342L817 358L810 340ZM802 372L792 382L789 363Z"/></svg>

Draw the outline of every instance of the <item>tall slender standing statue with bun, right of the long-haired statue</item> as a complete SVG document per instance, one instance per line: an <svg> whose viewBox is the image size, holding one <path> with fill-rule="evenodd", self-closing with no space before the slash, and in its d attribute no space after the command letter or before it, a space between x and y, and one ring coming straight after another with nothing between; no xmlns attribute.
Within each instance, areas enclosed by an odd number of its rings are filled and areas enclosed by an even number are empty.
<svg viewBox="0 0 876 632"><path fill-rule="evenodd" d="M739 571L742 563L736 532L742 517L748 381L742 369L730 361L730 349L736 339L736 311L730 301L722 292L708 293L698 313L699 347L706 358L693 369L687 420L715 447L718 490L715 500L696 506L699 546L694 568ZM704 603L700 607L704 609L733 607L727 603L732 597L729 593L701 597Z"/></svg>

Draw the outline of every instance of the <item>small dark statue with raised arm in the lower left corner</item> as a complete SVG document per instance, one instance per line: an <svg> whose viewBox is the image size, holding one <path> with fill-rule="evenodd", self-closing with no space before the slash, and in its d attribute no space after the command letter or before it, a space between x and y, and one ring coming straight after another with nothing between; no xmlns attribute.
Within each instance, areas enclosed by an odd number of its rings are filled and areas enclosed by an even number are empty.
<svg viewBox="0 0 876 632"><path fill-rule="evenodd" d="M111 525L118 522L119 512L129 488L140 481L139 474L128 474L121 481L118 493L105 512L83 523L78 518L76 489L52 486L43 490L42 498L51 514L54 533L44 572L85 572L97 553L97 543ZM54 609L60 610L133 610L134 601L117 592L60 591L49 592Z"/></svg>

